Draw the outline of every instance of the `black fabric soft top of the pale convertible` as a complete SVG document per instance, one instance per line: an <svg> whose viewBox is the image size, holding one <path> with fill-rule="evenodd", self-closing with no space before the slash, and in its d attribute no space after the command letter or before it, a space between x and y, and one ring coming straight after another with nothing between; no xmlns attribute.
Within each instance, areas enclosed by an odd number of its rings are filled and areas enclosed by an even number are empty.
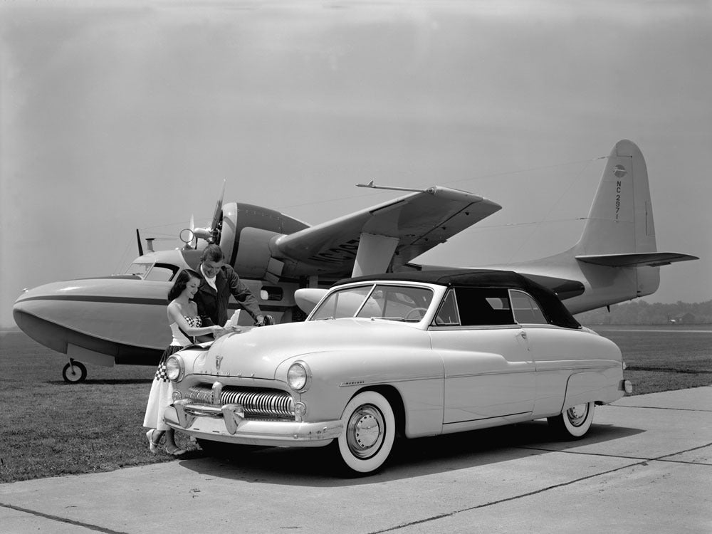
<svg viewBox="0 0 712 534"><path fill-rule="evenodd" d="M532 295L544 312L548 320L564 328L581 328L581 325L566 309L565 305L552 290L545 288L540 283L514 271L495 271L491 269L449 269L444 271L409 271L402 273L382 273L369 276L344 278L334 284L341 286L345 283L369 281L406 281L436 283L448 287L476 287L476 288L507 288L521 289Z"/></svg>

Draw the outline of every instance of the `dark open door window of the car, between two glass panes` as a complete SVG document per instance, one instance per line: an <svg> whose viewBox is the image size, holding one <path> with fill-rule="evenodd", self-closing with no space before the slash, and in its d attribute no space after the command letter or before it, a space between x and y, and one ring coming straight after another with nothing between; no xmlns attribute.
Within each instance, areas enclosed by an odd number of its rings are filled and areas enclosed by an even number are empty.
<svg viewBox="0 0 712 534"><path fill-rule="evenodd" d="M499 288L455 288L460 324L513 325L509 295Z"/></svg>

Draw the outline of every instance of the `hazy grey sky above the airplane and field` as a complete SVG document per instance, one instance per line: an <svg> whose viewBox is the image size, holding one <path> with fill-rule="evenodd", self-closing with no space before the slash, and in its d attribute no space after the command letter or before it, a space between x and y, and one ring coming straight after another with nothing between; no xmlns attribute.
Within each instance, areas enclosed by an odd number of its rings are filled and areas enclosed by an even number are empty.
<svg viewBox="0 0 712 534"><path fill-rule="evenodd" d="M318 224L441 185L501 211L416 261L577 241L618 140L648 167L649 302L712 298L710 1L0 5L0 328L23 288L121 273L225 201Z"/></svg>

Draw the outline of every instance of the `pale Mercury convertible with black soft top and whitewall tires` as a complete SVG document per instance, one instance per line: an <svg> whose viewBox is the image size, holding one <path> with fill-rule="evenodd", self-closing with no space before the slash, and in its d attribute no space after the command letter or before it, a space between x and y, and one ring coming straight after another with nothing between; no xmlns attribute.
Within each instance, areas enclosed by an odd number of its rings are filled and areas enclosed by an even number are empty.
<svg viewBox="0 0 712 534"><path fill-rule="evenodd" d="M164 419L205 449L331 446L356 473L381 467L395 436L546 417L578 438L596 404L632 391L612 341L508 271L351 278L303 323L193 345L167 367Z"/></svg>

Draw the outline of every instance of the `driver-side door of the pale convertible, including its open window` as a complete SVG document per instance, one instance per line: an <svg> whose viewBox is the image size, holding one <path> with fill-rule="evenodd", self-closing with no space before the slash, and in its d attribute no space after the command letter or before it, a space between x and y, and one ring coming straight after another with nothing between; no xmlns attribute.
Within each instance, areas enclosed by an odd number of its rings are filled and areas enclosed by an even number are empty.
<svg viewBox="0 0 712 534"><path fill-rule="evenodd" d="M429 333L444 365L444 431L526 419L535 397L534 362L506 289L448 290Z"/></svg>

